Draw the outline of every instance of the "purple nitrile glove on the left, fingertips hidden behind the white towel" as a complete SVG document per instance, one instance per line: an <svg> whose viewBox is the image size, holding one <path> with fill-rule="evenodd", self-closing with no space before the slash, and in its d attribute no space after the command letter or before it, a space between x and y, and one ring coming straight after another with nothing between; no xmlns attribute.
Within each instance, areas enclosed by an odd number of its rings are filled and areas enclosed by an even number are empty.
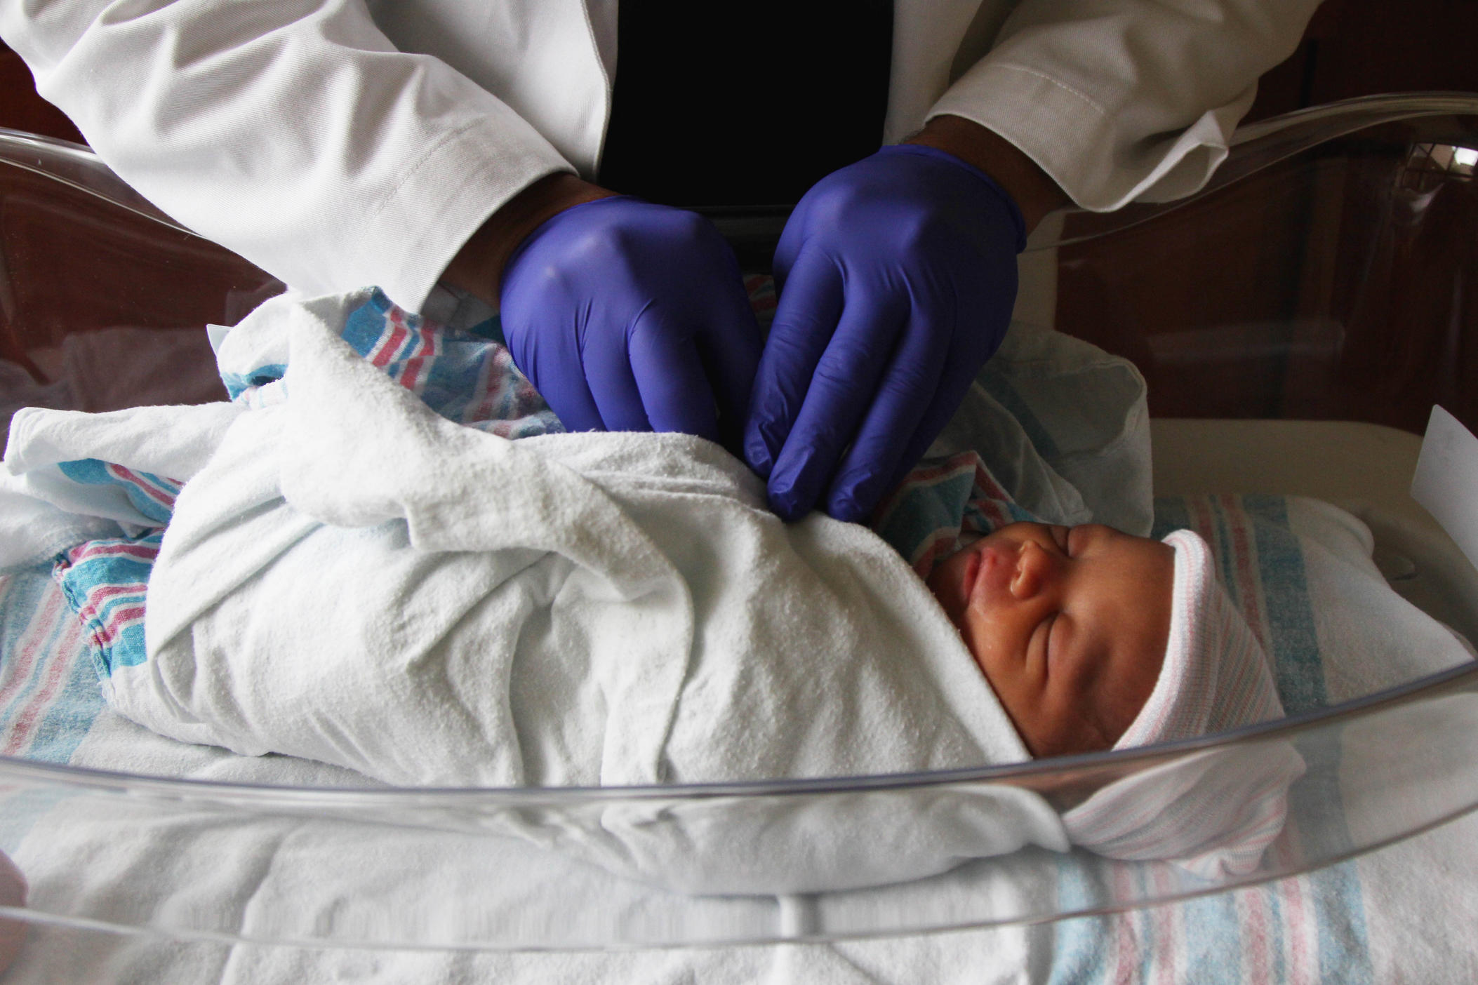
<svg viewBox="0 0 1478 985"><path fill-rule="evenodd" d="M738 445L760 328L702 216L627 196L566 208L508 257L500 303L514 365L566 428Z"/></svg>

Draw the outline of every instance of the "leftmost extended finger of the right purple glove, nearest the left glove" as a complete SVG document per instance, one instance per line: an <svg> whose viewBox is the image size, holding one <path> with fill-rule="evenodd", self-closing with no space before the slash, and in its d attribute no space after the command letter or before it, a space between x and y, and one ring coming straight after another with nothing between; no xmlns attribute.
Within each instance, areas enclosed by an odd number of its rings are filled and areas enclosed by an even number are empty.
<svg viewBox="0 0 1478 985"><path fill-rule="evenodd" d="M803 254L774 307L745 421L743 456L761 477L773 471L795 425L816 366L841 319L842 297L835 261L820 251Z"/></svg>

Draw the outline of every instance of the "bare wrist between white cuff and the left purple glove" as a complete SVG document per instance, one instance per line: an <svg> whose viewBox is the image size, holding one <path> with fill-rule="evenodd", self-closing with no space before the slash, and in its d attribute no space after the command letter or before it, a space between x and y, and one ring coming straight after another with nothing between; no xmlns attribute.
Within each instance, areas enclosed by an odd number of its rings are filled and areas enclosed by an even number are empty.
<svg viewBox="0 0 1478 985"><path fill-rule="evenodd" d="M442 279L497 307L503 267L529 233L566 208L612 195L575 174L547 174L489 216L446 264Z"/></svg>

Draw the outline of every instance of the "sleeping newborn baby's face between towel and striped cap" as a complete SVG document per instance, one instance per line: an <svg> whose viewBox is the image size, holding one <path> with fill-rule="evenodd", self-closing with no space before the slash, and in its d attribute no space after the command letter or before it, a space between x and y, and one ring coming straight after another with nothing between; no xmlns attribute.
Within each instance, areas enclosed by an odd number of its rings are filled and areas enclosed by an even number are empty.
<svg viewBox="0 0 1478 985"><path fill-rule="evenodd" d="M1171 634L1175 551L1101 524L1012 523L944 558L930 591L1033 756L1110 749Z"/></svg>

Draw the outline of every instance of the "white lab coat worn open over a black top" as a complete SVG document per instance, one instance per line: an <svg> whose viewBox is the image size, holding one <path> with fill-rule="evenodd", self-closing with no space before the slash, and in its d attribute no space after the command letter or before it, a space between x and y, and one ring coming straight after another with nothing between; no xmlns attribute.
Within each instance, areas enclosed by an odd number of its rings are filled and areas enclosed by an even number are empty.
<svg viewBox="0 0 1478 985"><path fill-rule="evenodd" d="M1082 207L1225 155L1317 0L896 0L885 142L974 120ZM520 189L593 177L616 0L0 0L0 38L124 180L312 292L421 309Z"/></svg>

